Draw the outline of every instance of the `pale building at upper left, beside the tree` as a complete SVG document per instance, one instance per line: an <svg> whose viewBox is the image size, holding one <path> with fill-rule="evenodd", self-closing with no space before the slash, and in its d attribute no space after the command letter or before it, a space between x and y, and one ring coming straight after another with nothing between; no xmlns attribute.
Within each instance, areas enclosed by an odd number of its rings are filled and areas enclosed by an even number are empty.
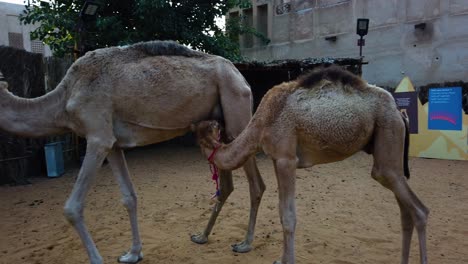
<svg viewBox="0 0 468 264"><path fill-rule="evenodd" d="M51 56L47 45L40 40L31 40L29 33L36 27L20 23L19 15L23 10L24 5L0 2L0 45Z"/></svg>

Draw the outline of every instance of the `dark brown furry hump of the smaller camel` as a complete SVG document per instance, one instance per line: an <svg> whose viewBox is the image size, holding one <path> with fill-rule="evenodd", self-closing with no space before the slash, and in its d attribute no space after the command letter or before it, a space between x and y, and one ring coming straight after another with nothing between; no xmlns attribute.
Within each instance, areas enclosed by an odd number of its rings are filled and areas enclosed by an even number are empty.
<svg viewBox="0 0 468 264"><path fill-rule="evenodd" d="M364 89L367 84L359 76L344 70L343 68L332 65L328 67L318 67L298 79L298 87L313 88L323 80L333 83L341 83L342 86L351 86L357 89Z"/></svg>

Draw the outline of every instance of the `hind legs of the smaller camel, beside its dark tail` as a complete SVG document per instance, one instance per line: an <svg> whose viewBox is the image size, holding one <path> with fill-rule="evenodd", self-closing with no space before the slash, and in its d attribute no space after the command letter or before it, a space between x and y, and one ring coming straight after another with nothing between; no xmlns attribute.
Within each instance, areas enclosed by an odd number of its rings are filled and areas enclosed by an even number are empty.
<svg viewBox="0 0 468 264"><path fill-rule="evenodd" d="M398 117L399 118L399 117ZM420 263L427 264L426 223L429 210L410 189L403 176L404 127L400 119L389 128L378 128L375 134L372 177L390 189L397 199L402 222L402 264L409 261L413 226L419 238ZM398 129L400 128L400 129Z"/></svg>

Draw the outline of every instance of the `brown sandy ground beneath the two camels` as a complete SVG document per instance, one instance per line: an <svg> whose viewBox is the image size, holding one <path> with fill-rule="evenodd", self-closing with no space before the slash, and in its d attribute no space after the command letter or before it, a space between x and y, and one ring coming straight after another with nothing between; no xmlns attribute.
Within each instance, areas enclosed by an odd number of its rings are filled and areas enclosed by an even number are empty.
<svg viewBox="0 0 468 264"><path fill-rule="evenodd" d="M281 252L276 180L270 160L259 156L267 184L254 250L231 252L243 239L248 187L234 172L235 191L206 245L190 241L210 215L214 185L199 150L172 145L127 153L139 196L139 223L148 263L272 263ZM371 157L298 170L297 263L399 263L400 217L392 193L370 177ZM429 263L468 263L468 162L410 161L410 185L430 208ZM0 187L0 263L86 263L81 242L62 216L77 170L33 184ZM130 226L110 168L100 170L87 199L86 222L105 263L130 246ZM416 235L410 263L419 263Z"/></svg>

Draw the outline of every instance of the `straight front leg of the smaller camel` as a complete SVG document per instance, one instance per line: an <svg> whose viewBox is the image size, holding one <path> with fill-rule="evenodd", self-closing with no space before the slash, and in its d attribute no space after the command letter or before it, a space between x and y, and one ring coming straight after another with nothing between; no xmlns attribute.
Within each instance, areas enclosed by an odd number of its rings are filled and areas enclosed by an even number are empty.
<svg viewBox="0 0 468 264"><path fill-rule="evenodd" d="M294 233L296 230L296 160L278 159L274 162L278 180L279 212L283 226L283 255L274 264L294 264Z"/></svg>

